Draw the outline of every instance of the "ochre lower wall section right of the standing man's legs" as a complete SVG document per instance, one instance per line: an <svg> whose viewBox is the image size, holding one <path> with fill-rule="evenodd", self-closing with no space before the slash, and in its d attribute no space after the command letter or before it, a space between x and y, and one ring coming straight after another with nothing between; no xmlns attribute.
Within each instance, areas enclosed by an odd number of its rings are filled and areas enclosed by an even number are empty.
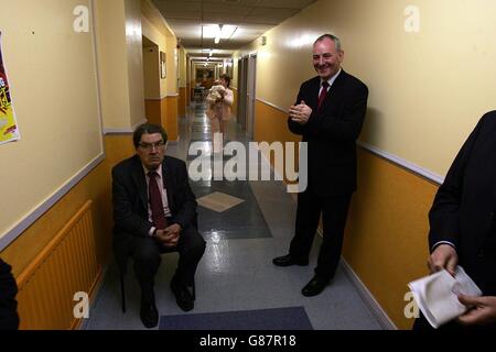
<svg viewBox="0 0 496 352"><path fill-rule="evenodd" d="M409 282L427 275L428 212L438 186L362 148L358 169L343 255L395 324L410 329L405 295Z"/></svg>

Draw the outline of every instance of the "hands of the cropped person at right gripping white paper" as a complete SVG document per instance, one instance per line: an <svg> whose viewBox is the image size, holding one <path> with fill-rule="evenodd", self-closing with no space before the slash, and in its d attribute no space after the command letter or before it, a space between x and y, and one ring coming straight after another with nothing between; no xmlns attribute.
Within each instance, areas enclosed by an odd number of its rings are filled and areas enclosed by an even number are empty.
<svg viewBox="0 0 496 352"><path fill-rule="evenodd" d="M459 256L453 246L440 244L432 252L428 261L428 267L431 273L445 268L452 276L454 275ZM466 306L468 310L456 318L462 324L485 324L496 321L496 296L466 296L459 295L459 300Z"/></svg>

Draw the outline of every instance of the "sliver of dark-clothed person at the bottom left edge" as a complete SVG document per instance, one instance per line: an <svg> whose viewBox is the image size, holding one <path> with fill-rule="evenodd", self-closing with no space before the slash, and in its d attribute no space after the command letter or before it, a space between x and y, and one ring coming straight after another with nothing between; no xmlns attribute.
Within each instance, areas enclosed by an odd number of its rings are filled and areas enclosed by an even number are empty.
<svg viewBox="0 0 496 352"><path fill-rule="evenodd" d="M19 315L15 295L18 284L12 267L0 258L0 330L18 330Z"/></svg>

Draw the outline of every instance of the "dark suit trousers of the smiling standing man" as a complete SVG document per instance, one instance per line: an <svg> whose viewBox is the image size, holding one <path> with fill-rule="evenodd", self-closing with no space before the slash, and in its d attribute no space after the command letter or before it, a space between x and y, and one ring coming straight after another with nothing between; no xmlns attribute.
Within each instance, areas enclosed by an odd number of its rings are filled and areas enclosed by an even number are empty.
<svg viewBox="0 0 496 352"><path fill-rule="evenodd" d="M323 242L319 252L315 275L324 280L334 277L341 258L344 229L352 194L321 197L310 187L298 195L295 233L290 254L306 261L322 213Z"/></svg>

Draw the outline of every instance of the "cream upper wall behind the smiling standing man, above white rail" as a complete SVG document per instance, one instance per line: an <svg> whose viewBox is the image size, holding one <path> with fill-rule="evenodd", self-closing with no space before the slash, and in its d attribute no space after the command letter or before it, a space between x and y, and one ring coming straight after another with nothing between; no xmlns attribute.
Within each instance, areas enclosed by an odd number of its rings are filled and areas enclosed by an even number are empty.
<svg viewBox="0 0 496 352"><path fill-rule="evenodd" d="M419 33L405 31L409 4L317 1L267 32L266 46L255 41L237 56L258 52L257 97L288 108L315 75L313 40L338 35L344 69L370 89L362 139L444 176L476 121L495 109L496 2L418 0Z"/></svg>

